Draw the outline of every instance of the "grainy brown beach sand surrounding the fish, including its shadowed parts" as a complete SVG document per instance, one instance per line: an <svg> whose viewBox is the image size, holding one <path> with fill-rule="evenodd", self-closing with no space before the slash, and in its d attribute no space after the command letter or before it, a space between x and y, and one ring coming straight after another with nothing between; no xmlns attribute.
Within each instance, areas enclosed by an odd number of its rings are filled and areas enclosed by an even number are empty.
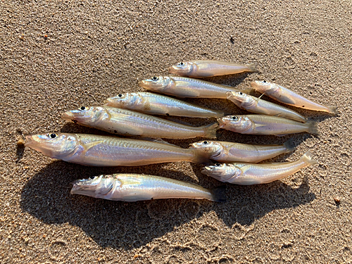
<svg viewBox="0 0 352 264"><path fill-rule="evenodd" d="M1 1L1 263L351 263L351 1ZM63 111L143 91L191 59L255 63L259 73L208 80L246 89L282 84L337 117L319 137L296 134L294 161L319 165L260 186L227 184L227 202L113 202L71 196L73 180L137 172L222 183L187 162L86 168L17 145L23 134L103 134L61 120ZM187 99L232 113L225 100ZM184 119L194 125L210 120ZM281 144L287 137L220 140ZM170 141L187 147L194 140Z"/></svg>

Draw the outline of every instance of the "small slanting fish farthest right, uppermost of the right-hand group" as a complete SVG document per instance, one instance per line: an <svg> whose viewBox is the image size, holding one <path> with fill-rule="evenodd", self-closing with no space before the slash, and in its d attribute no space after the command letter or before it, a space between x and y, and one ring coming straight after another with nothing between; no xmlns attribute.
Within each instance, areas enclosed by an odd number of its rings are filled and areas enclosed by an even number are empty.
<svg viewBox="0 0 352 264"><path fill-rule="evenodd" d="M309 99L306 99L279 84L266 81L254 81L251 82L251 85L258 92L265 94L266 96L269 96L281 103L286 103L290 106L305 108L313 111L337 114L337 107L322 106L321 104L310 101Z"/></svg>

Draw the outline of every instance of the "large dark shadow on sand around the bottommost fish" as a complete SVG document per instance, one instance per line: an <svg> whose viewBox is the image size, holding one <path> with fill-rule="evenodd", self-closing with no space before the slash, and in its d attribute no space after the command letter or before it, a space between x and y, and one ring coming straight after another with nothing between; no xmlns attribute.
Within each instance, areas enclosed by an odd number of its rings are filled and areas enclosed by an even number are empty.
<svg viewBox="0 0 352 264"><path fill-rule="evenodd" d="M222 185L201 175L200 169L201 165L194 165L199 177L198 184L203 187ZM235 223L251 225L272 210L294 208L315 199L315 194L309 191L307 179L296 188L279 181L249 187L227 184L225 203L187 199L126 203L70 195L69 183L73 180L117 172L162 175L194 182L182 172L165 170L163 164L134 168L90 168L55 161L25 184L20 206L23 211L47 224L69 222L78 226L103 247L132 249L146 245L206 212L214 211L229 227Z"/></svg>

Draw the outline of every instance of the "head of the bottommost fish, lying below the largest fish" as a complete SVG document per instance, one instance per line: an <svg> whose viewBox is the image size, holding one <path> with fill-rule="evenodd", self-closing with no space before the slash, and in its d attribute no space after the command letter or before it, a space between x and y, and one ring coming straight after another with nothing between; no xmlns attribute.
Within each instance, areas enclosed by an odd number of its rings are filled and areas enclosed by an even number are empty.
<svg viewBox="0 0 352 264"><path fill-rule="evenodd" d="M101 197L106 196L115 182L113 175L92 176L88 179L75 180L71 182L73 188L71 194L82 194L86 196Z"/></svg>

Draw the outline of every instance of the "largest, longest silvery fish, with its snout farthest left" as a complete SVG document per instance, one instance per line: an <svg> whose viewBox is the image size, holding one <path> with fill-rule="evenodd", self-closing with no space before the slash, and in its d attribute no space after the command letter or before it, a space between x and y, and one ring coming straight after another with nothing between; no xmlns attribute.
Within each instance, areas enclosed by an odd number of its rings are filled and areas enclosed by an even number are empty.
<svg viewBox="0 0 352 264"><path fill-rule="evenodd" d="M71 163L90 166L139 166L173 161L208 163L196 149L172 144L94 134L49 133L25 136L25 146Z"/></svg>

